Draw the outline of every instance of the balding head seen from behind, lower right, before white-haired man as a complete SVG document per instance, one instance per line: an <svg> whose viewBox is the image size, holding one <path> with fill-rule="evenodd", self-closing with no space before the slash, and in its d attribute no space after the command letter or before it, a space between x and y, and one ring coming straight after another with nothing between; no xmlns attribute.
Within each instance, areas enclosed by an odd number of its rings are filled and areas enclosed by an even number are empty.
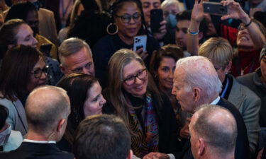
<svg viewBox="0 0 266 159"><path fill-rule="evenodd" d="M238 134L235 118L217 105L202 105L189 124L194 158L234 158Z"/></svg>

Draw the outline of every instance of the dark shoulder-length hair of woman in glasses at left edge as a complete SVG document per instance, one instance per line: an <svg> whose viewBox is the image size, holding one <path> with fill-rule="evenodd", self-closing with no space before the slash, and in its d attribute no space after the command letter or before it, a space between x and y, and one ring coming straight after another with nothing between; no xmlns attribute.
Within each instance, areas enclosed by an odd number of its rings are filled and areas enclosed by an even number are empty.
<svg viewBox="0 0 266 159"><path fill-rule="evenodd" d="M43 54L30 46L18 45L6 52L0 70L0 98L16 100L25 94L31 77L31 71Z"/></svg>

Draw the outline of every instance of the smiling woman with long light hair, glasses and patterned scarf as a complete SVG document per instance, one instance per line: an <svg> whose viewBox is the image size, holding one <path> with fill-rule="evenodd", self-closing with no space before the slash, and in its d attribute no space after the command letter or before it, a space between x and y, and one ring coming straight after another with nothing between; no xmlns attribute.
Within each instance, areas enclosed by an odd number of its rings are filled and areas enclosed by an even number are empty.
<svg viewBox="0 0 266 159"><path fill-rule="evenodd" d="M177 121L143 59L130 49L118 50L109 61L109 86L103 113L116 114L131 133L131 149L139 158L150 152L179 150Z"/></svg>

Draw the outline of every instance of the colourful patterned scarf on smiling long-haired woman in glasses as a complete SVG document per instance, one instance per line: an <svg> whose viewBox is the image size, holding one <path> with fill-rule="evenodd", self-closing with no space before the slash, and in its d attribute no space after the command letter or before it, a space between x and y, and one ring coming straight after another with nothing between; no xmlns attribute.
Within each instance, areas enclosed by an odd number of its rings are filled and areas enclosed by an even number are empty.
<svg viewBox="0 0 266 159"><path fill-rule="evenodd" d="M157 152L159 149L159 128L157 124L156 113L153 107L152 98L145 98L145 117L143 119L144 129L140 124L140 120L133 108L129 108L129 122L134 136L131 136L131 148L134 155L143 158L150 152Z"/></svg>

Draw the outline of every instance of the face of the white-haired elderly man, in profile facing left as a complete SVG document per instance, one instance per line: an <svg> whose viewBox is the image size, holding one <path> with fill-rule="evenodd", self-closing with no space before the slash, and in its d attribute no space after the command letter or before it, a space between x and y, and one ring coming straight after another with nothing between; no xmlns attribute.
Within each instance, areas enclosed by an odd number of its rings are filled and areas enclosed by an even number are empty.
<svg viewBox="0 0 266 159"><path fill-rule="evenodd" d="M181 109L194 113L195 102L192 90L188 90L187 83L184 81L185 71L178 67L174 71L174 87L172 88L172 94L176 96Z"/></svg>

